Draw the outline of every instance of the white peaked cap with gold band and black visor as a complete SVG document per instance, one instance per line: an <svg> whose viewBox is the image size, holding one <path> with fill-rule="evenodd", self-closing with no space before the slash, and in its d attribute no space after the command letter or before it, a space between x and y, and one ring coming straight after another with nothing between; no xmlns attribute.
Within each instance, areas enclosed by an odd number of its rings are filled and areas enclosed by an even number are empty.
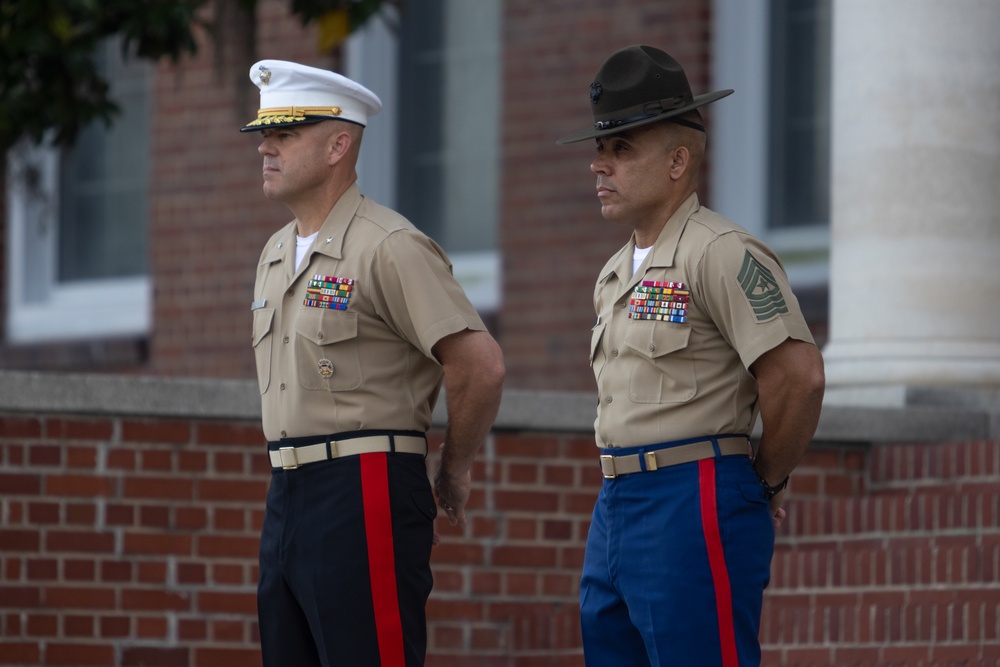
<svg viewBox="0 0 1000 667"><path fill-rule="evenodd" d="M242 132L328 119L365 126L382 109L375 93L346 76L286 60L254 63L250 80L260 88L260 110Z"/></svg>

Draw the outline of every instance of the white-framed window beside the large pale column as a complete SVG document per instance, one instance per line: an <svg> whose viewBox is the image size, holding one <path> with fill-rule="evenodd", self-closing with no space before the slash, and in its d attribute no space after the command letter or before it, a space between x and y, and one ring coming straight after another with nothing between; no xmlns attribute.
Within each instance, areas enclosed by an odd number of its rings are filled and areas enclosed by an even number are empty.
<svg viewBox="0 0 1000 667"><path fill-rule="evenodd" d="M710 206L766 240L793 284L825 284L830 0L715 0Z"/></svg>

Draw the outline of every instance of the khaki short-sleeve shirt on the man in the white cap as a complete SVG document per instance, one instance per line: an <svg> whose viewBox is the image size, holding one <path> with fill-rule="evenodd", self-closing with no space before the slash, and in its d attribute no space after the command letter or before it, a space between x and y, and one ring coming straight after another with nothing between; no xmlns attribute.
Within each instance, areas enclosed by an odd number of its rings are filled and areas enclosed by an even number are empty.
<svg viewBox="0 0 1000 667"><path fill-rule="evenodd" d="M268 241L254 285L267 439L426 431L442 381L432 348L485 331L444 251L355 185L294 264L292 222Z"/></svg>

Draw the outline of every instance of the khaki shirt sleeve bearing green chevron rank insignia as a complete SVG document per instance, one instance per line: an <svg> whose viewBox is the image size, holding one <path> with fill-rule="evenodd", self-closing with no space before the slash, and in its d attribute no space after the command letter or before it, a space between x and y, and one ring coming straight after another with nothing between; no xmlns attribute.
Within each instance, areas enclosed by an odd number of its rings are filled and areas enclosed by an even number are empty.
<svg viewBox="0 0 1000 667"><path fill-rule="evenodd" d="M696 275L706 311L747 369L789 338L814 342L781 261L753 236L721 234Z"/></svg>

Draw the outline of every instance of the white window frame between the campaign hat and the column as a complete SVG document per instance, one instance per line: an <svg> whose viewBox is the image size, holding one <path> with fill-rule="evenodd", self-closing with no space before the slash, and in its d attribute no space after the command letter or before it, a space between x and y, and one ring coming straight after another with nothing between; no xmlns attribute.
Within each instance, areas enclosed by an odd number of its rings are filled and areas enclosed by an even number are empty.
<svg viewBox="0 0 1000 667"><path fill-rule="evenodd" d="M829 283L830 228L771 229L768 216L770 3L713 0L712 79L735 94L709 107L712 208L777 252L793 286Z"/></svg>

